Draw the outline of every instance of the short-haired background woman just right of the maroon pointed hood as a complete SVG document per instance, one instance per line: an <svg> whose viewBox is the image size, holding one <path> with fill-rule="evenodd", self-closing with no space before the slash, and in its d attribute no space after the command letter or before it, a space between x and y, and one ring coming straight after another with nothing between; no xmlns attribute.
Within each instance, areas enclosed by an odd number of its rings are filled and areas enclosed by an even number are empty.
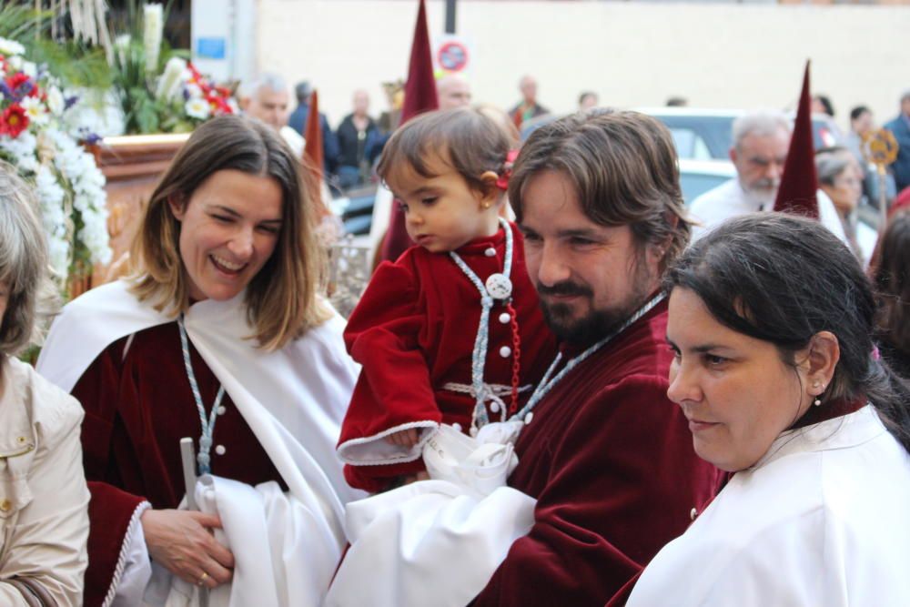
<svg viewBox="0 0 910 607"><path fill-rule="evenodd" d="M818 187L825 193L841 220L847 243L863 264L871 251L865 253L856 240L856 207L863 197L863 169L846 147L826 147L815 154L815 174Z"/></svg>

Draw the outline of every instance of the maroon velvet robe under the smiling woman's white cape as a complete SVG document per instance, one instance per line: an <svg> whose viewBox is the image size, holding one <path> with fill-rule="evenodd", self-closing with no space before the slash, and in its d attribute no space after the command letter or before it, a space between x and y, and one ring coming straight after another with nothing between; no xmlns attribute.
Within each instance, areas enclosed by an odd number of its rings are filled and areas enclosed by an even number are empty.
<svg viewBox="0 0 910 607"><path fill-rule="evenodd" d="M177 508L185 492L179 441L201 432L189 387L177 323L135 334L108 346L86 369L73 395L86 410L82 449L90 483L89 565L86 606L100 604L128 522L143 499L154 508ZM190 342L190 360L207 412L220 385ZM281 481L247 422L225 394L215 426L212 473L258 484ZM225 448L217 453L217 445ZM122 491L115 491L114 488Z"/></svg>

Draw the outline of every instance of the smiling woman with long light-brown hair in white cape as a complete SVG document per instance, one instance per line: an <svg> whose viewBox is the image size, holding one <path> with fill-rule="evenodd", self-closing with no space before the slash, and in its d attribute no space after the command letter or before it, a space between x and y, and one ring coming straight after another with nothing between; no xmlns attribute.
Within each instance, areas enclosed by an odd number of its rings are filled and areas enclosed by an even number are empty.
<svg viewBox="0 0 910 607"><path fill-rule="evenodd" d="M136 604L149 557L167 592L198 585L213 601L253 591L261 605L317 604L329 584L350 497L335 440L356 371L343 320L317 293L313 193L298 167L258 120L199 126L148 202L135 275L76 298L51 329L38 370L82 401L98 481L86 605ZM203 508L207 486L216 508ZM186 491L201 511L177 510ZM263 555L280 550L284 561ZM235 563L247 575L232 581Z"/></svg>

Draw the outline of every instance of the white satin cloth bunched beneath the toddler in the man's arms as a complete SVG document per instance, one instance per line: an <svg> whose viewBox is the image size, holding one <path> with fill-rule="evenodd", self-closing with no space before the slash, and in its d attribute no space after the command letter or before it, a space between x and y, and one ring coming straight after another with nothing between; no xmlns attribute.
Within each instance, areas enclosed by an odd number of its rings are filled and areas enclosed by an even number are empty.
<svg viewBox="0 0 910 607"><path fill-rule="evenodd" d="M349 503L351 547L325 604L463 607L477 596L534 524L536 501L505 486L514 426L489 424L475 440L443 425L424 448L430 481Z"/></svg>

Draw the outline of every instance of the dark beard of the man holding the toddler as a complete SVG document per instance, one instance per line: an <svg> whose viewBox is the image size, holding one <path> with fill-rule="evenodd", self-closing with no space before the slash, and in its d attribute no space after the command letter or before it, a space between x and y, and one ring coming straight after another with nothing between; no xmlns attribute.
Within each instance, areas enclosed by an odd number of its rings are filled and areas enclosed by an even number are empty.
<svg viewBox="0 0 910 607"><path fill-rule="evenodd" d="M573 346L585 348L600 341L619 329L627 319L632 317L635 310L644 305L646 298L651 294L653 280L650 272L636 263L632 276L632 292L622 301L608 309L591 310L580 319L573 319L571 307L562 303L548 303L541 297L541 310L543 319L553 334ZM592 302L593 293L590 288L565 280L552 287L537 285L538 293L543 295L578 295L588 298Z"/></svg>

